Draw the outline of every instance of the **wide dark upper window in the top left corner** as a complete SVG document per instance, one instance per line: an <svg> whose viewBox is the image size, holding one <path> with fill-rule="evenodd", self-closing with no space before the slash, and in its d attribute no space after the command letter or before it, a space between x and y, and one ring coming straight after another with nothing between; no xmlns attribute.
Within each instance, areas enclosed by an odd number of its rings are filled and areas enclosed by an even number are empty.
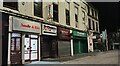
<svg viewBox="0 0 120 66"><path fill-rule="evenodd" d="M13 10L18 10L18 0L3 0L3 7L7 7Z"/></svg>

